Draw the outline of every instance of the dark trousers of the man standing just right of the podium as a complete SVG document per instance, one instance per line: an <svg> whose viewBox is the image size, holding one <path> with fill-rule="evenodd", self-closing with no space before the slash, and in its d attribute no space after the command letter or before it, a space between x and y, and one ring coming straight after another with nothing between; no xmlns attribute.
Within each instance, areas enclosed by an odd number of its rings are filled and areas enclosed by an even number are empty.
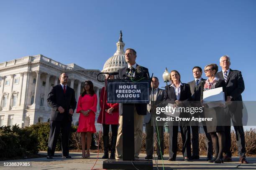
<svg viewBox="0 0 256 170"><path fill-rule="evenodd" d="M157 155L164 155L164 127L157 126L158 133L156 130L157 141L156 143L156 153ZM159 139L158 139L159 136ZM151 120L146 123L146 154L152 156L153 155L153 142L154 142L154 126L151 125ZM161 148L161 152L160 152Z"/></svg>

